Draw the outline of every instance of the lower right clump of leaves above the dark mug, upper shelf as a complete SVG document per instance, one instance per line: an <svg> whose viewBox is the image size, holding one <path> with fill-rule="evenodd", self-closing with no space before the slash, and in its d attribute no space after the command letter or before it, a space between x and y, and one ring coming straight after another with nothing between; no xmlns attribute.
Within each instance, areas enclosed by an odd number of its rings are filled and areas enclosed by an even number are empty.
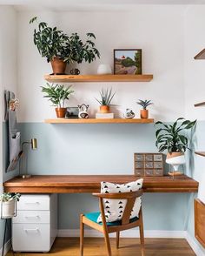
<svg viewBox="0 0 205 256"><path fill-rule="evenodd" d="M92 38L96 39L96 36L93 33L87 33L86 36L87 39L85 43L83 43L77 33L72 33L66 43L69 48L69 51L67 51L68 55L65 57L66 62L76 62L80 64L84 60L85 62L91 63L96 57L100 57L100 53L96 49L95 43L91 41Z"/></svg>

